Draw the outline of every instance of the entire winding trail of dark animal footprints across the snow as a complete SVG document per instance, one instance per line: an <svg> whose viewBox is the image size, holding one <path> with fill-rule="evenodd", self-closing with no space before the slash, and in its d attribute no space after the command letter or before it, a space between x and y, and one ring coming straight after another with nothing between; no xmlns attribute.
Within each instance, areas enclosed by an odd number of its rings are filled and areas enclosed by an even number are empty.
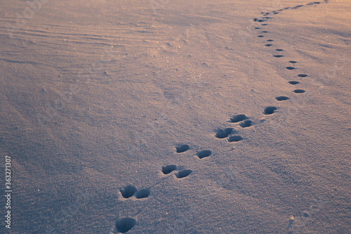
<svg viewBox="0 0 351 234"><path fill-rule="evenodd" d="M328 3L329 0L324 0L324 3ZM286 8L282 8L279 9L277 11L271 11L271 12L262 12L261 14L263 15L260 18L255 18L253 19L253 21L256 22L260 22L261 26L267 26L268 24L266 23L267 20L272 19L272 17L267 16L267 15L276 15L281 11L286 11L289 9L297 9L303 6L312 6L312 5L317 5L317 4L321 4L321 2L319 1L314 1L305 5L298 5L298 6L294 6L294 7L286 7ZM260 30L260 27L254 27L254 29L256 30ZM267 33L268 31L264 30L262 31L262 33ZM264 35L258 35L257 37L265 37ZM269 42L269 44L265 44L266 47L270 47L273 46L272 41L274 41L273 39L267 39L267 42ZM276 48L275 51L277 52L282 52L284 51L284 49L282 48ZM282 54L274 54L272 55L274 58L283 58L284 55ZM296 70L295 64L298 63L295 60L289 60L289 63L291 63L290 66L286 66L286 70ZM297 77L308 77L307 74L298 74ZM291 85L297 85L300 84L300 82L295 81L295 80L291 80L288 82ZM303 89L294 89L293 93L305 93L305 90ZM278 96L275 98L277 101L283 101L283 100L289 100L290 98L288 96ZM277 107L274 106L268 106L263 110L263 114L264 115L272 115L274 114L275 110L278 110ZM240 126L242 129L247 128L249 126L253 125L253 122L251 121L251 119L249 119L249 117L247 117L244 114L239 114L239 115L234 115L232 118L230 118L230 123L234 123L237 124L238 126ZM234 143L234 142L238 142L238 141L242 141L244 140L243 137L239 136L238 131L235 130L232 127L228 127L226 129L217 129L216 134L215 134L216 138L219 139L227 139L227 141L229 143ZM190 150L190 145L178 145L176 146L176 152L177 153L183 153L186 152L187 150ZM199 157L199 160L202 160L206 157L210 157L212 154L211 150L201 150L197 153L195 153L195 155L197 155L197 157ZM178 167L176 166L176 164L168 164L165 165L164 167L161 167L161 172L164 175L170 175L172 172L174 171L173 175L176 176L176 178L181 179L181 178L185 178L187 176L190 176L190 174L192 174L192 170L191 169L178 169ZM135 186L124 186L123 188L119 189L119 192L121 193L121 196L124 197L125 199L129 199L131 197L135 197L135 199L137 200L142 200L145 199L147 197L149 197L151 190L150 188L143 188L138 190ZM111 233L126 233L129 230L131 230L136 224L136 220L133 218L123 218L123 219L119 219L114 223L114 227Z"/></svg>

